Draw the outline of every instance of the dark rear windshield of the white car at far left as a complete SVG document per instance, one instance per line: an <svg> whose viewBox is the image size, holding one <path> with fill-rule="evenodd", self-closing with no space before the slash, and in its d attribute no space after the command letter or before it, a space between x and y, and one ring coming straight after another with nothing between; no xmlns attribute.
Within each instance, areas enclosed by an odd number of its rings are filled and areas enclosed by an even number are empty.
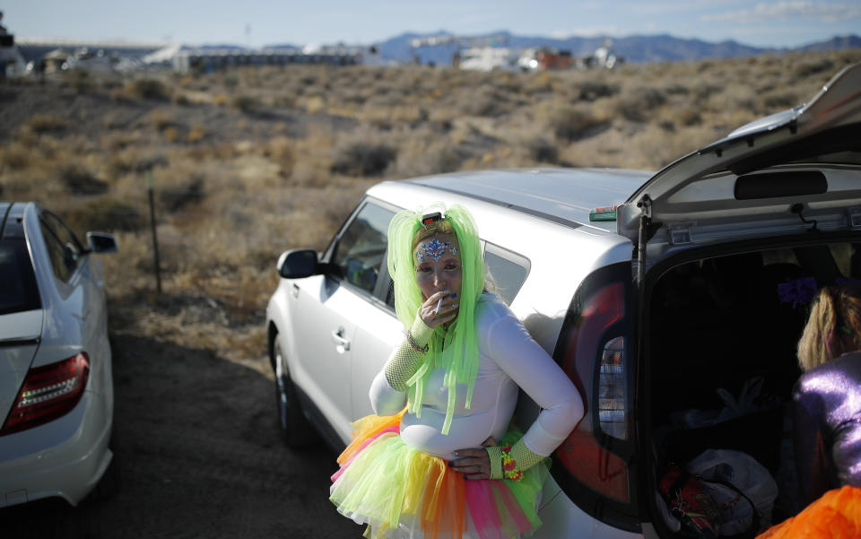
<svg viewBox="0 0 861 539"><path fill-rule="evenodd" d="M26 244L22 239L0 242L0 315L40 308Z"/></svg>

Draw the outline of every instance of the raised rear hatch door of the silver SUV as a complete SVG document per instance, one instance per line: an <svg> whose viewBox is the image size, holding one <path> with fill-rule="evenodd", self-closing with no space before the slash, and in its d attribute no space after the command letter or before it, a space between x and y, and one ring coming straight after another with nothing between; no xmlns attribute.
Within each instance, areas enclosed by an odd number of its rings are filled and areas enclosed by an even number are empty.
<svg viewBox="0 0 861 539"><path fill-rule="evenodd" d="M619 206L645 267L676 248L799 230L861 230L861 64L809 103L657 172ZM642 265L642 264L641 264Z"/></svg>

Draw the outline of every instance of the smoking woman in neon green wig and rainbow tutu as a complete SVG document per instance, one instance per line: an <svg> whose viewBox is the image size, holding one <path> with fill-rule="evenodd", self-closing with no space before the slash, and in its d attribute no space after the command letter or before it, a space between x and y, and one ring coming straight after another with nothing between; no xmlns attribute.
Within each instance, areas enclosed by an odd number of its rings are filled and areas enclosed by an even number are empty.
<svg viewBox="0 0 861 539"><path fill-rule="evenodd" d="M397 213L388 270L407 330L370 387L378 415L354 423L330 500L374 539L531 534L545 459L583 416L577 389L485 292L462 206ZM510 424L518 387L542 407L526 434Z"/></svg>

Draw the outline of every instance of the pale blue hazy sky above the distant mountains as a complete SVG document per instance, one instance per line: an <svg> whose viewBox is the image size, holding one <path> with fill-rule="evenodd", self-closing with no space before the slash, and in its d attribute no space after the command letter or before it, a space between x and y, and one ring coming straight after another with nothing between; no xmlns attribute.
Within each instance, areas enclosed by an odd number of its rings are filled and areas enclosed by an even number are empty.
<svg viewBox="0 0 861 539"><path fill-rule="evenodd" d="M405 31L477 35L668 33L757 47L797 47L861 34L861 0L3 0L4 26L21 38L231 43L261 47L371 44Z"/></svg>

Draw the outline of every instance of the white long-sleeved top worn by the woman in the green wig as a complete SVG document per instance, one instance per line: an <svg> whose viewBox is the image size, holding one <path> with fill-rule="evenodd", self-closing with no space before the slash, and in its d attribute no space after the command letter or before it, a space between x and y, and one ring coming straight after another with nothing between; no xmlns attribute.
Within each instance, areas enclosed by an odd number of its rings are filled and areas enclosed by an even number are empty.
<svg viewBox="0 0 861 539"><path fill-rule="evenodd" d="M443 434L448 388L442 383L445 369L433 369L424 389L422 417L405 413L401 438L412 448L445 459L457 449L481 447L488 437L499 440L508 430L520 387L542 407L523 441L535 454L549 456L583 417L577 388L496 296L483 294L475 316L480 358L471 406L465 406L466 386L458 385L448 436ZM398 413L406 398L405 391L389 385L381 369L370 387L374 412Z"/></svg>

